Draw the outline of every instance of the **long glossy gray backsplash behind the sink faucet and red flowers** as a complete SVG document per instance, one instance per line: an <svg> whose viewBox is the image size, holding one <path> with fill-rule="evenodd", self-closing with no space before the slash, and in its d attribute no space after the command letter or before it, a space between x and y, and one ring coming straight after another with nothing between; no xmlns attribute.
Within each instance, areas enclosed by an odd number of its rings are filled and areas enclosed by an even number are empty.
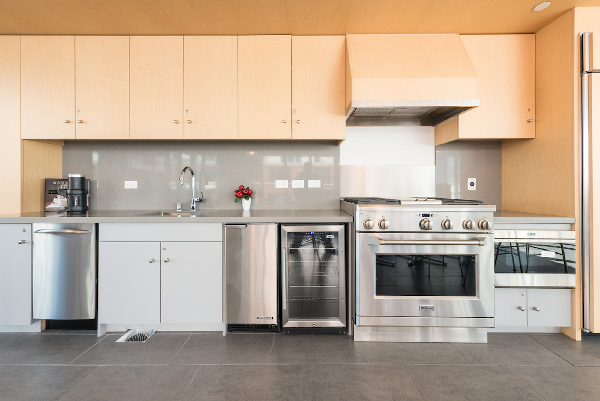
<svg viewBox="0 0 600 401"><path fill-rule="evenodd" d="M241 209L233 191L250 187L253 209L337 209L340 207L340 150L335 142L314 141L66 141L62 172L91 179L95 210L190 209L191 175L196 176L198 209ZM53 177L52 177L53 178ZM288 188L275 188L287 179ZM304 188L292 188L304 179ZM320 188L308 188L320 179ZM137 181L125 189L124 181Z"/></svg>

